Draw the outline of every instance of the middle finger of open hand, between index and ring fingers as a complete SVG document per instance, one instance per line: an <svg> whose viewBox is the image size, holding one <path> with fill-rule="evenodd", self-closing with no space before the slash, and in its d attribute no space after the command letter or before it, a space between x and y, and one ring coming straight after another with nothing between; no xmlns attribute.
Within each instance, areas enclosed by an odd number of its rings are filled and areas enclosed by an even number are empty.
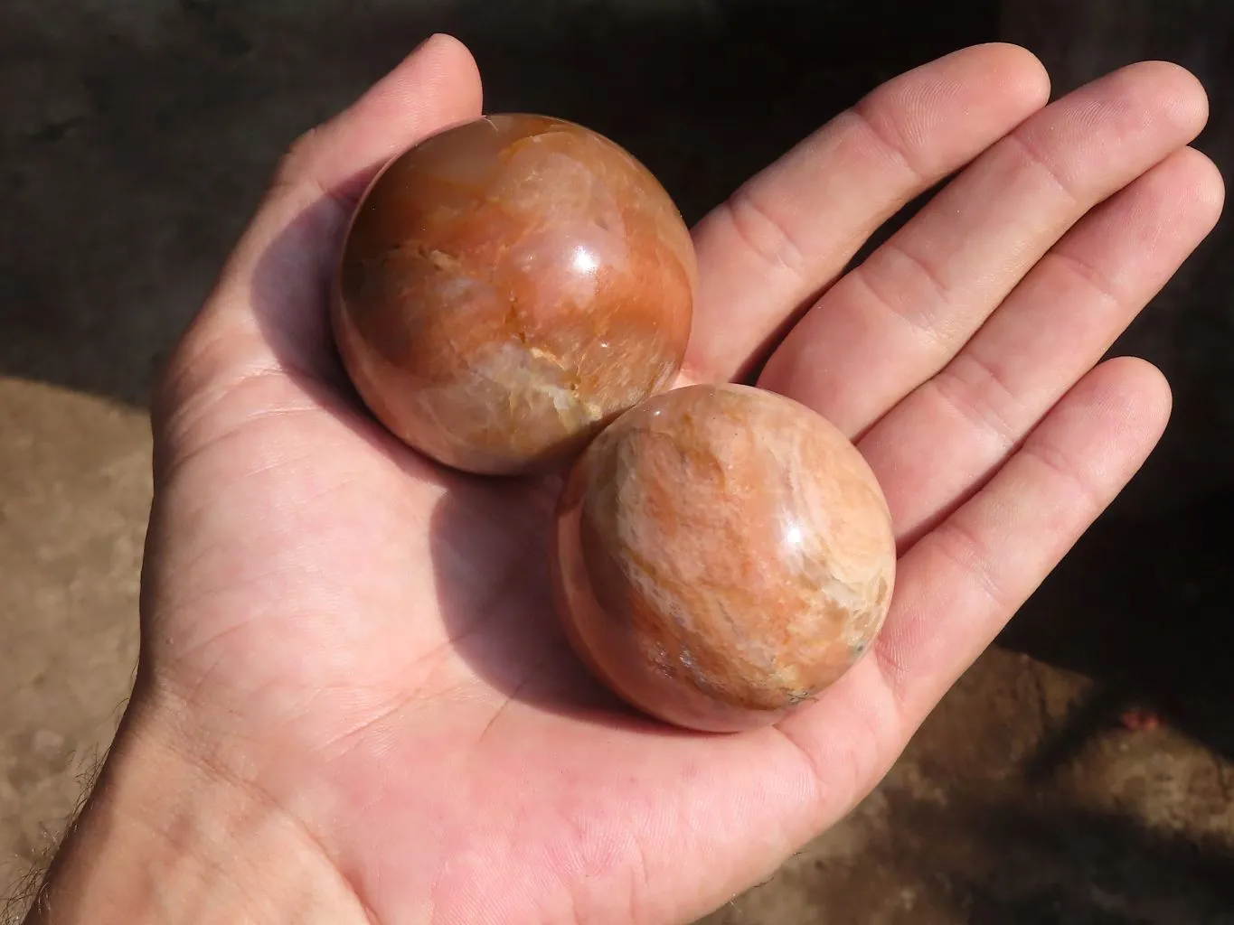
<svg viewBox="0 0 1234 925"><path fill-rule="evenodd" d="M1199 83L1161 62L1046 106L828 290L760 385L864 432L945 366L1088 210L1192 141L1207 111Z"/></svg>

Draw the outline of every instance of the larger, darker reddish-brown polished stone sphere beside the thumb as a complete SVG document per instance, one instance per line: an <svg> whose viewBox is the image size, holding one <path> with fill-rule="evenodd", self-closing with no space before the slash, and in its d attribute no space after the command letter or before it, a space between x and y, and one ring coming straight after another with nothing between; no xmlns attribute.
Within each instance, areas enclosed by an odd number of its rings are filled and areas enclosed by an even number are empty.
<svg viewBox="0 0 1234 925"><path fill-rule="evenodd" d="M497 115L395 158L357 208L333 327L360 397L455 469L576 453L676 377L697 269L631 154L557 118Z"/></svg>

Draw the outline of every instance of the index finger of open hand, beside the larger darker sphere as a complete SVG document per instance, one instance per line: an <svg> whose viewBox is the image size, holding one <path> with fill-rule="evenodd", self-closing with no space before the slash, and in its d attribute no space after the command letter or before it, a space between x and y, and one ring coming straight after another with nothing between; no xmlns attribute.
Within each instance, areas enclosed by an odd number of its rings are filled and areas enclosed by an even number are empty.
<svg viewBox="0 0 1234 925"><path fill-rule="evenodd" d="M690 377L745 375L880 224L1048 97L1030 52L975 46L887 81L752 178L695 229Z"/></svg>

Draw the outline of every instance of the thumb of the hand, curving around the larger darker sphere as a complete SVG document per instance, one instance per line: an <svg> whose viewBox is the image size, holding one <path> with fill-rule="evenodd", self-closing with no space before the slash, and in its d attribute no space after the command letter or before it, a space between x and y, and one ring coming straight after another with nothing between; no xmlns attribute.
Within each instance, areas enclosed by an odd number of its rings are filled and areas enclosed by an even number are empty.
<svg viewBox="0 0 1234 925"><path fill-rule="evenodd" d="M189 405L234 421L302 400L306 380L337 375L327 289L360 194L391 157L480 112L475 60L462 42L437 35L301 136L168 360L155 390L155 434L196 417L185 413ZM258 380L260 387L242 388ZM221 406L230 413L216 416Z"/></svg>

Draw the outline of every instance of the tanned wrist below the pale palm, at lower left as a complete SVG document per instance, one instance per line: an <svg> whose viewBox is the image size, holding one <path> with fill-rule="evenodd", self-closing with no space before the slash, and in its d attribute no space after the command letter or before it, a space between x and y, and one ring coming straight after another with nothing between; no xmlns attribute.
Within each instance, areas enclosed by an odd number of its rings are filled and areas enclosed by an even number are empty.
<svg viewBox="0 0 1234 925"><path fill-rule="evenodd" d="M130 708L26 925L371 925L308 834Z"/></svg>

